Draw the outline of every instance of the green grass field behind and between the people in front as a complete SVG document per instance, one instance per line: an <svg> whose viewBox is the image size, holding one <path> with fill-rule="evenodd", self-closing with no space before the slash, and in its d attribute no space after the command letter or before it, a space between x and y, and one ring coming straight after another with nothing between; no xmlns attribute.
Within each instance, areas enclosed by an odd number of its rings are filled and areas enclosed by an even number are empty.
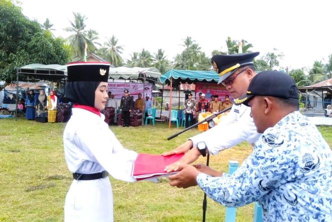
<svg viewBox="0 0 332 222"><path fill-rule="evenodd" d="M72 181L62 145L65 123L0 120L0 221L62 221L64 197ZM124 147L160 154L199 133L191 129L173 140L180 128L156 126L110 129ZM319 127L332 145L330 127ZM227 161L241 163L251 152L245 142L210 157L212 168L227 171ZM197 162L204 163L204 158ZM114 196L114 221L201 221L203 192L198 187L178 189L167 179L158 183L127 183L110 177ZM225 208L207 201L206 221L223 221ZM253 205L237 208L236 221L252 220Z"/></svg>

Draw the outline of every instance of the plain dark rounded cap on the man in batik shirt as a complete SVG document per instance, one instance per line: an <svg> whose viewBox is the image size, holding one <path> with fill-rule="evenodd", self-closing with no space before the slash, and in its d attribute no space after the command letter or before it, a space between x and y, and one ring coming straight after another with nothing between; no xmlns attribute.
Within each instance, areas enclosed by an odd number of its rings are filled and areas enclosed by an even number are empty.
<svg viewBox="0 0 332 222"><path fill-rule="evenodd" d="M234 104L248 106L248 102L254 96L298 99L298 90L294 80L288 74L279 71L263 71L251 79L246 95L235 99Z"/></svg>

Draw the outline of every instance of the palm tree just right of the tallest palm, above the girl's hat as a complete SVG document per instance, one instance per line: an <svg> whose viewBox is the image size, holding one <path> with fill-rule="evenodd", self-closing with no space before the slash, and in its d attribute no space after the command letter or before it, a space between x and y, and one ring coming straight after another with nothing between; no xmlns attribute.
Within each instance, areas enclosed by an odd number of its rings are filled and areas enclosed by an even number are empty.
<svg viewBox="0 0 332 222"><path fill-rule="evenodd" d="M104 46L107 48L106 58L114 66L120 66L122 64L122 46L117 46L117 39L114 35L111 38L107 39L108 42L104 43Z"/></svg>

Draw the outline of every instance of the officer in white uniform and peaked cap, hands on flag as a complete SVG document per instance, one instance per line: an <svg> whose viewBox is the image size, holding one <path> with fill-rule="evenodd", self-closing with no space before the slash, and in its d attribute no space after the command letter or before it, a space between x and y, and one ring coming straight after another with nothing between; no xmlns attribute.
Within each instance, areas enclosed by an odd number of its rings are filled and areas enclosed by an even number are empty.
<svg viewBox="0 0 332 222"><path fill-rule="evenodd" d="M256 74L252 60L258 54L259 52L215 55L211 58L212 66L220 76L218 83L224 85L233 98L245 95L250 80ZM163 153L163 155L185 153L178 162L168 165L165 171L175 171L179 163L192 163L199 155L205 156L207 152L215 155L244 140L253 144L259 136L250 117L250 108L244 105L233 105L220 124L189 138L175 149ZM195 148L191 149L192 147Z"/></svg>

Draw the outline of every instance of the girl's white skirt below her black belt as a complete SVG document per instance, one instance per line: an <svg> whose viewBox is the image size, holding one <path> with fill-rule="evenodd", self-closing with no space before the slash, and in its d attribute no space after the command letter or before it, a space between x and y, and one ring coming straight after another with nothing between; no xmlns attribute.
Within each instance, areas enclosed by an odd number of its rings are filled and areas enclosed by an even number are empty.
<svg viewBox="0 0 332 222"><path fill-rule="evenodd" d="M64 203L64 221L113 221L113 196L108 177L73 180Z"/></svg>

